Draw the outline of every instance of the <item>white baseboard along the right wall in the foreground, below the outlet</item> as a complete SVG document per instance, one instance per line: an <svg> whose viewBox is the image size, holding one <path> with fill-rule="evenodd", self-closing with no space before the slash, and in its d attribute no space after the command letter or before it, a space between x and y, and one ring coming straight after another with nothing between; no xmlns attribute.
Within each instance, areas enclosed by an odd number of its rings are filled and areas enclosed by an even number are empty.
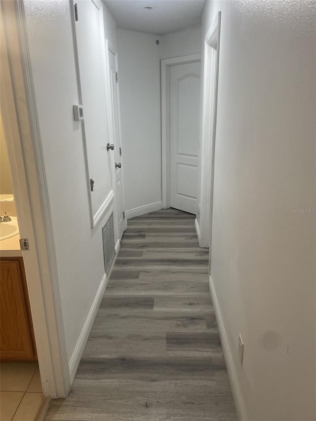
<svg viewBox="0 0 316 421"><path fill-rule="evenodd" d="M232 387L233 397L234 397L235 406L237 410L237 417L239 421L247 421L248 418L247 418L246 409L245 409L245 405L244 405L241 390L240 390L240 385L237 378L232 351L228 342L222 313L218 304L216 291L215 291L214 283L211 276L209 277L208 285L209 285L209 290L210 290L210 294L212 297L213 306L215 310L215 316L216 316L219 335L220 335L221 343L223 347L223 354L224 354L224 358L226 362L228 377L229 377L231 387Z"/></svg>

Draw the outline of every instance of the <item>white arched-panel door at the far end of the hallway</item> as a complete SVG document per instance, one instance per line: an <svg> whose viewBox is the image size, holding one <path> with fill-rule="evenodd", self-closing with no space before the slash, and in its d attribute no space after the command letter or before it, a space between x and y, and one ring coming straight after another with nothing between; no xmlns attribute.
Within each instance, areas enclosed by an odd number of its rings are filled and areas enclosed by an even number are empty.
<svg viewBox="0 0 316 421"><path fill-rule="evenodd" d="M200 62L170 67L170 206L197 213Z"/></svg>

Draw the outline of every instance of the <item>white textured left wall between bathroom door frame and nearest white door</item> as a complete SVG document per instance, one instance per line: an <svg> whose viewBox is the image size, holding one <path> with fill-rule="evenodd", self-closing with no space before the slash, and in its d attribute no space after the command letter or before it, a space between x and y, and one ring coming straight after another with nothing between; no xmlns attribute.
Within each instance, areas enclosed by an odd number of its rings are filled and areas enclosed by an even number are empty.
<svg viewBox="0 0 316 421"><path fill-rule="evenodd" d="M90 228L83 137L68 0L26 0L27 33L49 191L68 359L104 275L102 231ZM108 38L115 44L115 23Z"/></svg>

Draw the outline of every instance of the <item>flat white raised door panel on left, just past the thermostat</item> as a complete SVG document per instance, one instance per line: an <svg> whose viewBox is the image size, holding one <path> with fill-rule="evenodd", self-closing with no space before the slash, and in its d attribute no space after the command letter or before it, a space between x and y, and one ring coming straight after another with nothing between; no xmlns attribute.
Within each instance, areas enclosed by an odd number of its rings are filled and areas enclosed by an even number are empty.
<svg viewBox="0 0 316 421"><path fill-rule="evenodd" d="M112 192L106 148L109 140L106 122L102 3L85 0L78 1L74 6L88 182L92 180L93 184L90 190L94 216Z"/></svg>

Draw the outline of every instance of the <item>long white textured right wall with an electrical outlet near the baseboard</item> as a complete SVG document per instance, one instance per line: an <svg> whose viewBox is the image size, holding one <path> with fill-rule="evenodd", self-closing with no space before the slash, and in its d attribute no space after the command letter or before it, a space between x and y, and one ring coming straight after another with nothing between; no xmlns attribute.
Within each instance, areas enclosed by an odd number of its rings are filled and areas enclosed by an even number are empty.
<svg viewBox="0 0 316 421"><path fill-rule="evenodd" d="M207 2L203 36L218 10L211 275L248 420L312 421L315 3Z"/></svg>

